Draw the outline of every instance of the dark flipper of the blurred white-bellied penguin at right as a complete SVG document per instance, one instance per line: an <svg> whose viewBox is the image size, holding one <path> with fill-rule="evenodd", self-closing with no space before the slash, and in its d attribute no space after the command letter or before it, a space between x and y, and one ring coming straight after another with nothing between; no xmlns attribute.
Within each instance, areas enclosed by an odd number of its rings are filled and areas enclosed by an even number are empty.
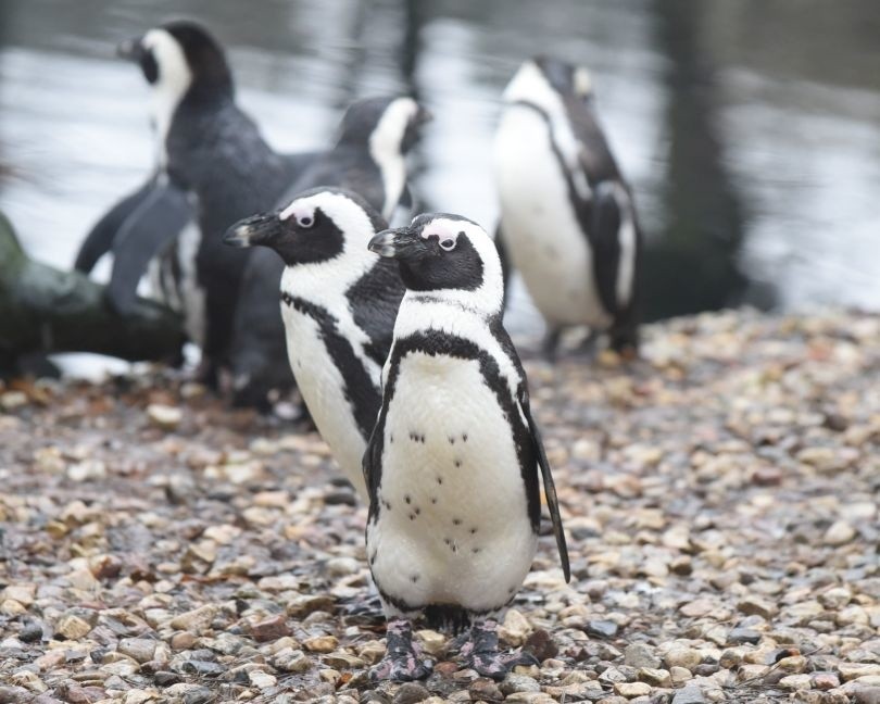
<svg viewBox="0 0 880 704"><path fill-rule="evenodd" d="M594 251L593 272L599 298L608 313L616 314L617 272L620 263L620 224L623 214L613 181L602 181L593 190L590 234Z"/></svg>

